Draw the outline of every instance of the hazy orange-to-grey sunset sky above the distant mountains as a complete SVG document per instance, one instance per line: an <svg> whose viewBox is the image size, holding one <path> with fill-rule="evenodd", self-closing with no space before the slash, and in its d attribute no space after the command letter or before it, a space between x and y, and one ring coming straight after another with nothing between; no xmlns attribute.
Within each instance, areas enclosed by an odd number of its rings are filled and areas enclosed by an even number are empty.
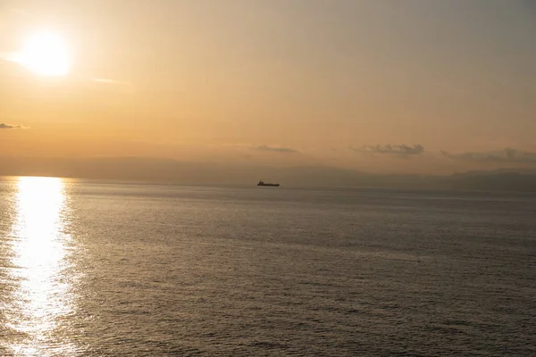
<svg viewBox="0 0 536 357"><path fill-rule="evenodd" d="M13 60L42 33L66 75ZM0 156L536 168L534 38L530 0L0 0Z"/></svg>

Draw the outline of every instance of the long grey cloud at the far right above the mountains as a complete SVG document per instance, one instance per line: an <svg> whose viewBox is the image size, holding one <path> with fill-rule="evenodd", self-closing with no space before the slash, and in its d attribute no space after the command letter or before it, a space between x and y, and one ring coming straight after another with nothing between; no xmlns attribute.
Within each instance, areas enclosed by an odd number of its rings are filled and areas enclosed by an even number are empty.
<svg viewBox="0 0 536 357"><path fill-rule="evenodd" d="M536 163L536 153L506 148L501 151L482 153L449 154L441 152L448 159L458 162L511 162L511 163Z"/></svg>

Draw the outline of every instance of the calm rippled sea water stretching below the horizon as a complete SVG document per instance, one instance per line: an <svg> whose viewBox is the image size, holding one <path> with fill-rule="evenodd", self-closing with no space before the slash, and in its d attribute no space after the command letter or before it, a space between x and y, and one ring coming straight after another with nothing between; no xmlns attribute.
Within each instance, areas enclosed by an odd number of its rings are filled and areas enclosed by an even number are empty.
<svg viewBox="0 0 536 357"><path fill-rule="evenodd" d="M0 179L0 355L536 355L536 198Z"/></svg>

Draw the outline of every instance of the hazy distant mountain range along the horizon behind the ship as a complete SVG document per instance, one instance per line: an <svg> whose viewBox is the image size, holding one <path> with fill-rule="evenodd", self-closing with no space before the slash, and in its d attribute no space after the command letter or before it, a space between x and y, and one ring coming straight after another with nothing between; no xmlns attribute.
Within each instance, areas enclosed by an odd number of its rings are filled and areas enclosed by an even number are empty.
<svg viewBox="0 0 536 357"><path fill-rule="evenodd" d="M252 185L259 179L281 187L392 187L536 192L536 170L474 170L448 176L381 175L330 167L272 168L222 162L152 158L0 157L0 176L169 182L184 185Z"/></svg>

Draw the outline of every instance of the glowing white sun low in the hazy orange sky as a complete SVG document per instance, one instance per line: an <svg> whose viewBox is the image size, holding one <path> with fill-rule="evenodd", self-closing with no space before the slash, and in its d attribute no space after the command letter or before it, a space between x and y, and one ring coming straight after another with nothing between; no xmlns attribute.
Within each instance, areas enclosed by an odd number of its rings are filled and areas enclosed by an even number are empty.
<svg viewBox="0 0 536 357"><path fill-rule="evenodd" d="M63 38L54 32L42 31L29 36L18 62L39 76L65 76L71 70L71 54Z"/></svg>

